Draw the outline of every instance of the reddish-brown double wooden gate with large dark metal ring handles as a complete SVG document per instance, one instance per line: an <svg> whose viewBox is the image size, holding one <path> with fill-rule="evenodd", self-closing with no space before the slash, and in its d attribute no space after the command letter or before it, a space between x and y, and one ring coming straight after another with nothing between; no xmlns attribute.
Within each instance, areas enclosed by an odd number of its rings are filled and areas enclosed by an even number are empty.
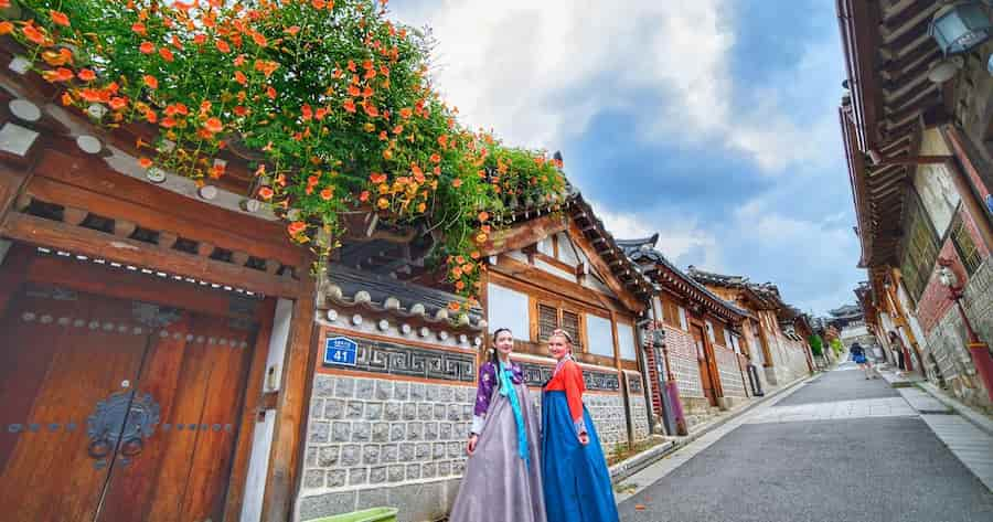
<svg viewBox="0 0 993 522"><path fill-rule="evenodd" d="M255 323L87 291L114 274L78 263L21 267L0 281L3 519L220 521Z"/></svg>

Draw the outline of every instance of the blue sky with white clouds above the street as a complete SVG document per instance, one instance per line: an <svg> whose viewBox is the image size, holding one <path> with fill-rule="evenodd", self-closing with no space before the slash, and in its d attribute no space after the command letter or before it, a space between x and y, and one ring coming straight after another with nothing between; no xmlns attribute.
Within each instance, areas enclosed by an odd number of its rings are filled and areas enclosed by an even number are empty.
<svg viewBox="0 0 993 522"><path fill-rule="evenodd" d="M865 278L824 0L393 0L472 128L559 150L617 238L823 315Z"/></svg>

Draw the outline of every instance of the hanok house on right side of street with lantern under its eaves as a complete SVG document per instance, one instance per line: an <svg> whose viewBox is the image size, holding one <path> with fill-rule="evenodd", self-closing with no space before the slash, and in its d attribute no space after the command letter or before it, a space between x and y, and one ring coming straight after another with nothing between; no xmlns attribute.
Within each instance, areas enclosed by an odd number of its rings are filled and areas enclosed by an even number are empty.
<svg viewBox="0 0 993 522"><path fill-rule="evenodd" d="M991 14L979 1L839 2L868 301L915 372L981 407L993 407Z"/></svg>

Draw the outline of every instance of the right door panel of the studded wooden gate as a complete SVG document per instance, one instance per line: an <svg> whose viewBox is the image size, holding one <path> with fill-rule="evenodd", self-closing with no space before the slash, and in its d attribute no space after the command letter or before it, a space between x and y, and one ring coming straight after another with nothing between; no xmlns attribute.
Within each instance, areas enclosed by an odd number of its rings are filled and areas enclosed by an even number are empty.
<svg viewBox="0 0 993 522"><path fill-rule="evenodd" d="M221 520L254 345L253 326L229 322L183 312L152 337L138 386L162 397L161 424L139 455L115 466L99 520Z"/></svg>

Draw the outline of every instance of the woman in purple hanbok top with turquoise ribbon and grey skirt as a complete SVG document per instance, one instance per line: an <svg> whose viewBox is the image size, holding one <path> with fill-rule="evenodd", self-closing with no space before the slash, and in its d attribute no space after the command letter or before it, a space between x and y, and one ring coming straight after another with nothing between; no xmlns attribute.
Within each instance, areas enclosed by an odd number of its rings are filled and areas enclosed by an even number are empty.
<svg viewBox="0 0 993 522"><path fill-rule="evenodd" d="M545 522L538 424L521 366L510 360L514 335L493 332L495 349L479 369L469 460L450 522Z"/></svg>

